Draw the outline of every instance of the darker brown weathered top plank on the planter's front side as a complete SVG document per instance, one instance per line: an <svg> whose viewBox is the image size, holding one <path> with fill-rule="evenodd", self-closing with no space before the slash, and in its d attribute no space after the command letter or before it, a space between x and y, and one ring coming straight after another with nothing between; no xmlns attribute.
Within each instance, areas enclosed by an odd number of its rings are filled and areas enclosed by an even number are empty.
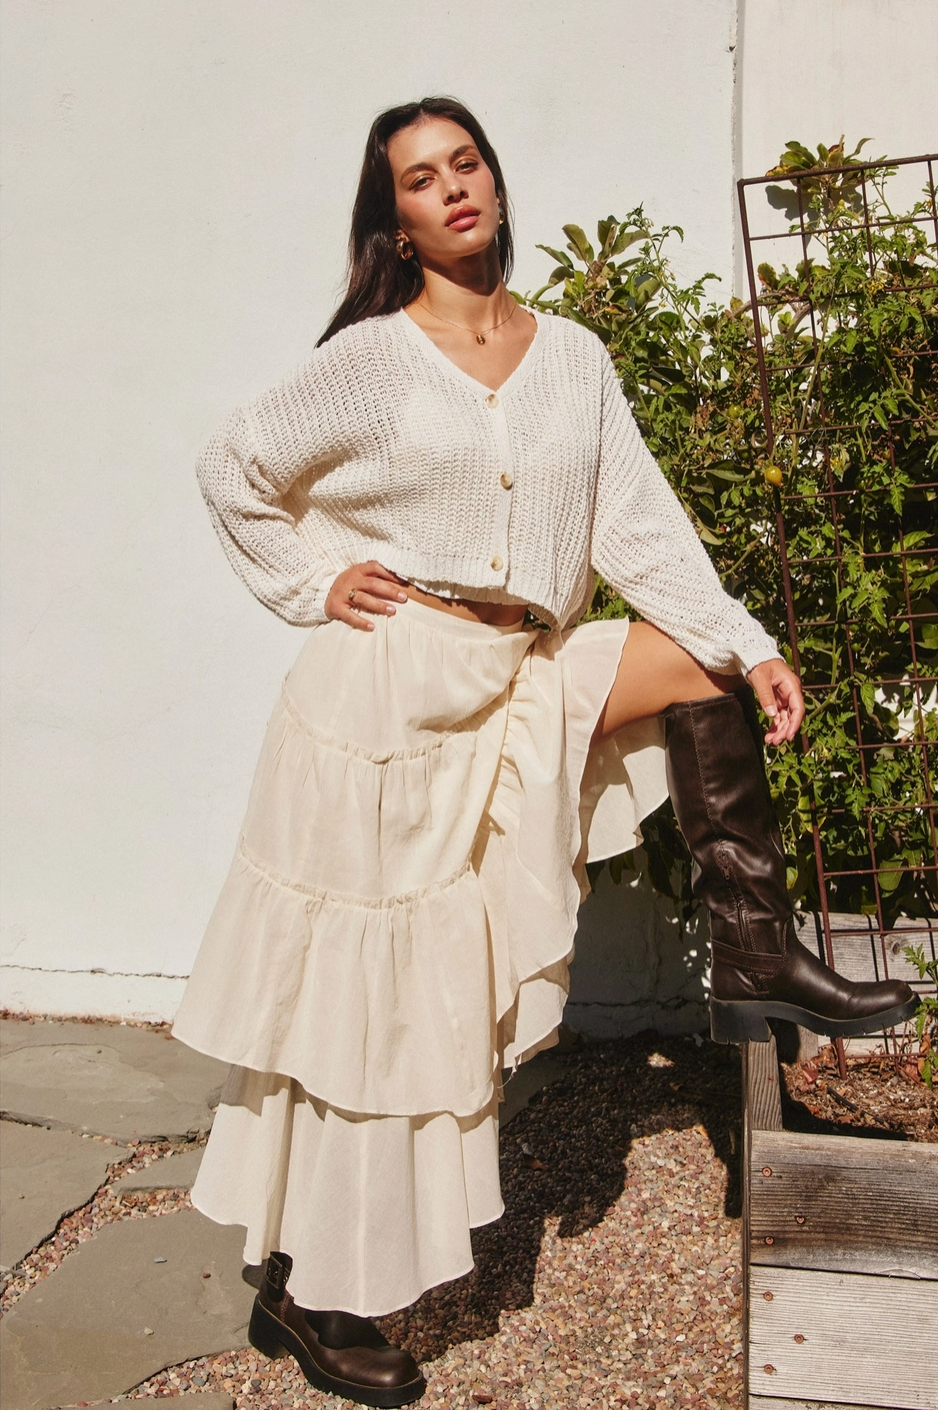
<svg viewBox="0 0 938 1410"><path fill-rule="evenodd" d="M938 1145L753 1131L749 1241L752 1263L938 1277Z"/></svg>

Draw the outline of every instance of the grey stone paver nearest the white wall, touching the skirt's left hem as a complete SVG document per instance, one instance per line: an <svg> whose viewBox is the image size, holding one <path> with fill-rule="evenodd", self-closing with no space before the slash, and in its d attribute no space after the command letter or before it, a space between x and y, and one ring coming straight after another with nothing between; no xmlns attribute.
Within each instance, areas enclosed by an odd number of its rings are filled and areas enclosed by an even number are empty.
<svg viewBox="0 0 938 1410"><path fill-rule="evenodd" d="M3 1019L3 1108L117 1141L185 1141L212 1125L227 1074L165 1034L117 1024Z"/></svg>

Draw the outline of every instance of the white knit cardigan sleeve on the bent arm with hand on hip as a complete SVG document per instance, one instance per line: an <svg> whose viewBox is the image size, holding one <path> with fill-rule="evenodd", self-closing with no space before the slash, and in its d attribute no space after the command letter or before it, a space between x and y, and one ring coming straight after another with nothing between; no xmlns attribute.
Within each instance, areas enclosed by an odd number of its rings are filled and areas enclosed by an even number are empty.
<svg viewBox="0 0 938 1410"><path fill-rule="evenodd" d="M329 388L317 386L313 367L234 412L196 467L231 567L293 626L326 620L326 595L343 567L300 537L289 503L300 475L324 472L336 453Z"/></svg>

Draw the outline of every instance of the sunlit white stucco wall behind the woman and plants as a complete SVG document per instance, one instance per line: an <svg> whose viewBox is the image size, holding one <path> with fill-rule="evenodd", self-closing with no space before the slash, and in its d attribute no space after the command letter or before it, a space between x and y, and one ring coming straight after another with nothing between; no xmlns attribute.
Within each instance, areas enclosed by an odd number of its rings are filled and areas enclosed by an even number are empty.
<svg viewBox="0 0 938 1410"><path fill-rule="evenodd" d="M863 83L893 127L853 117L849 65L815 93L804 24L786 82L762 82L796 10L879 25ZM681 269L728 289L739 162L831 124L925 144L928 55L899 16L934 10L749 0L735 51L735 0L4 0L8 1007L175 1008L300 642L231 574L192 465L323 327L375 111L426 92L475 109L518 212L515 288L542 282L535 245L564 221L645 202L686 227ZM602 962L605 1007L643 1025L660 986L639 994L607 949L656 922L621 901L587 915L577 983L598 1003Z"/></svg>

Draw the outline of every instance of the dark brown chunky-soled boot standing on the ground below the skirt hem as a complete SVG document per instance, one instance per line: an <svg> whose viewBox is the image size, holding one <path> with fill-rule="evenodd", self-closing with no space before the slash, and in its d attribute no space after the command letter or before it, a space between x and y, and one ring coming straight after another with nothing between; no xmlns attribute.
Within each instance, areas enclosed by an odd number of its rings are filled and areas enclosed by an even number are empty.
<svg viewBox="0 0 938 1410"><path fill-rule="evenodd" d="M293 1261L271 1253L254 1299L248 1341L265 1356L295 1356L312 1386L363 1406L406 1406L426 1390L413 1356L388 1342L370 1317L307 1311L286 1292Z"/></svg>

